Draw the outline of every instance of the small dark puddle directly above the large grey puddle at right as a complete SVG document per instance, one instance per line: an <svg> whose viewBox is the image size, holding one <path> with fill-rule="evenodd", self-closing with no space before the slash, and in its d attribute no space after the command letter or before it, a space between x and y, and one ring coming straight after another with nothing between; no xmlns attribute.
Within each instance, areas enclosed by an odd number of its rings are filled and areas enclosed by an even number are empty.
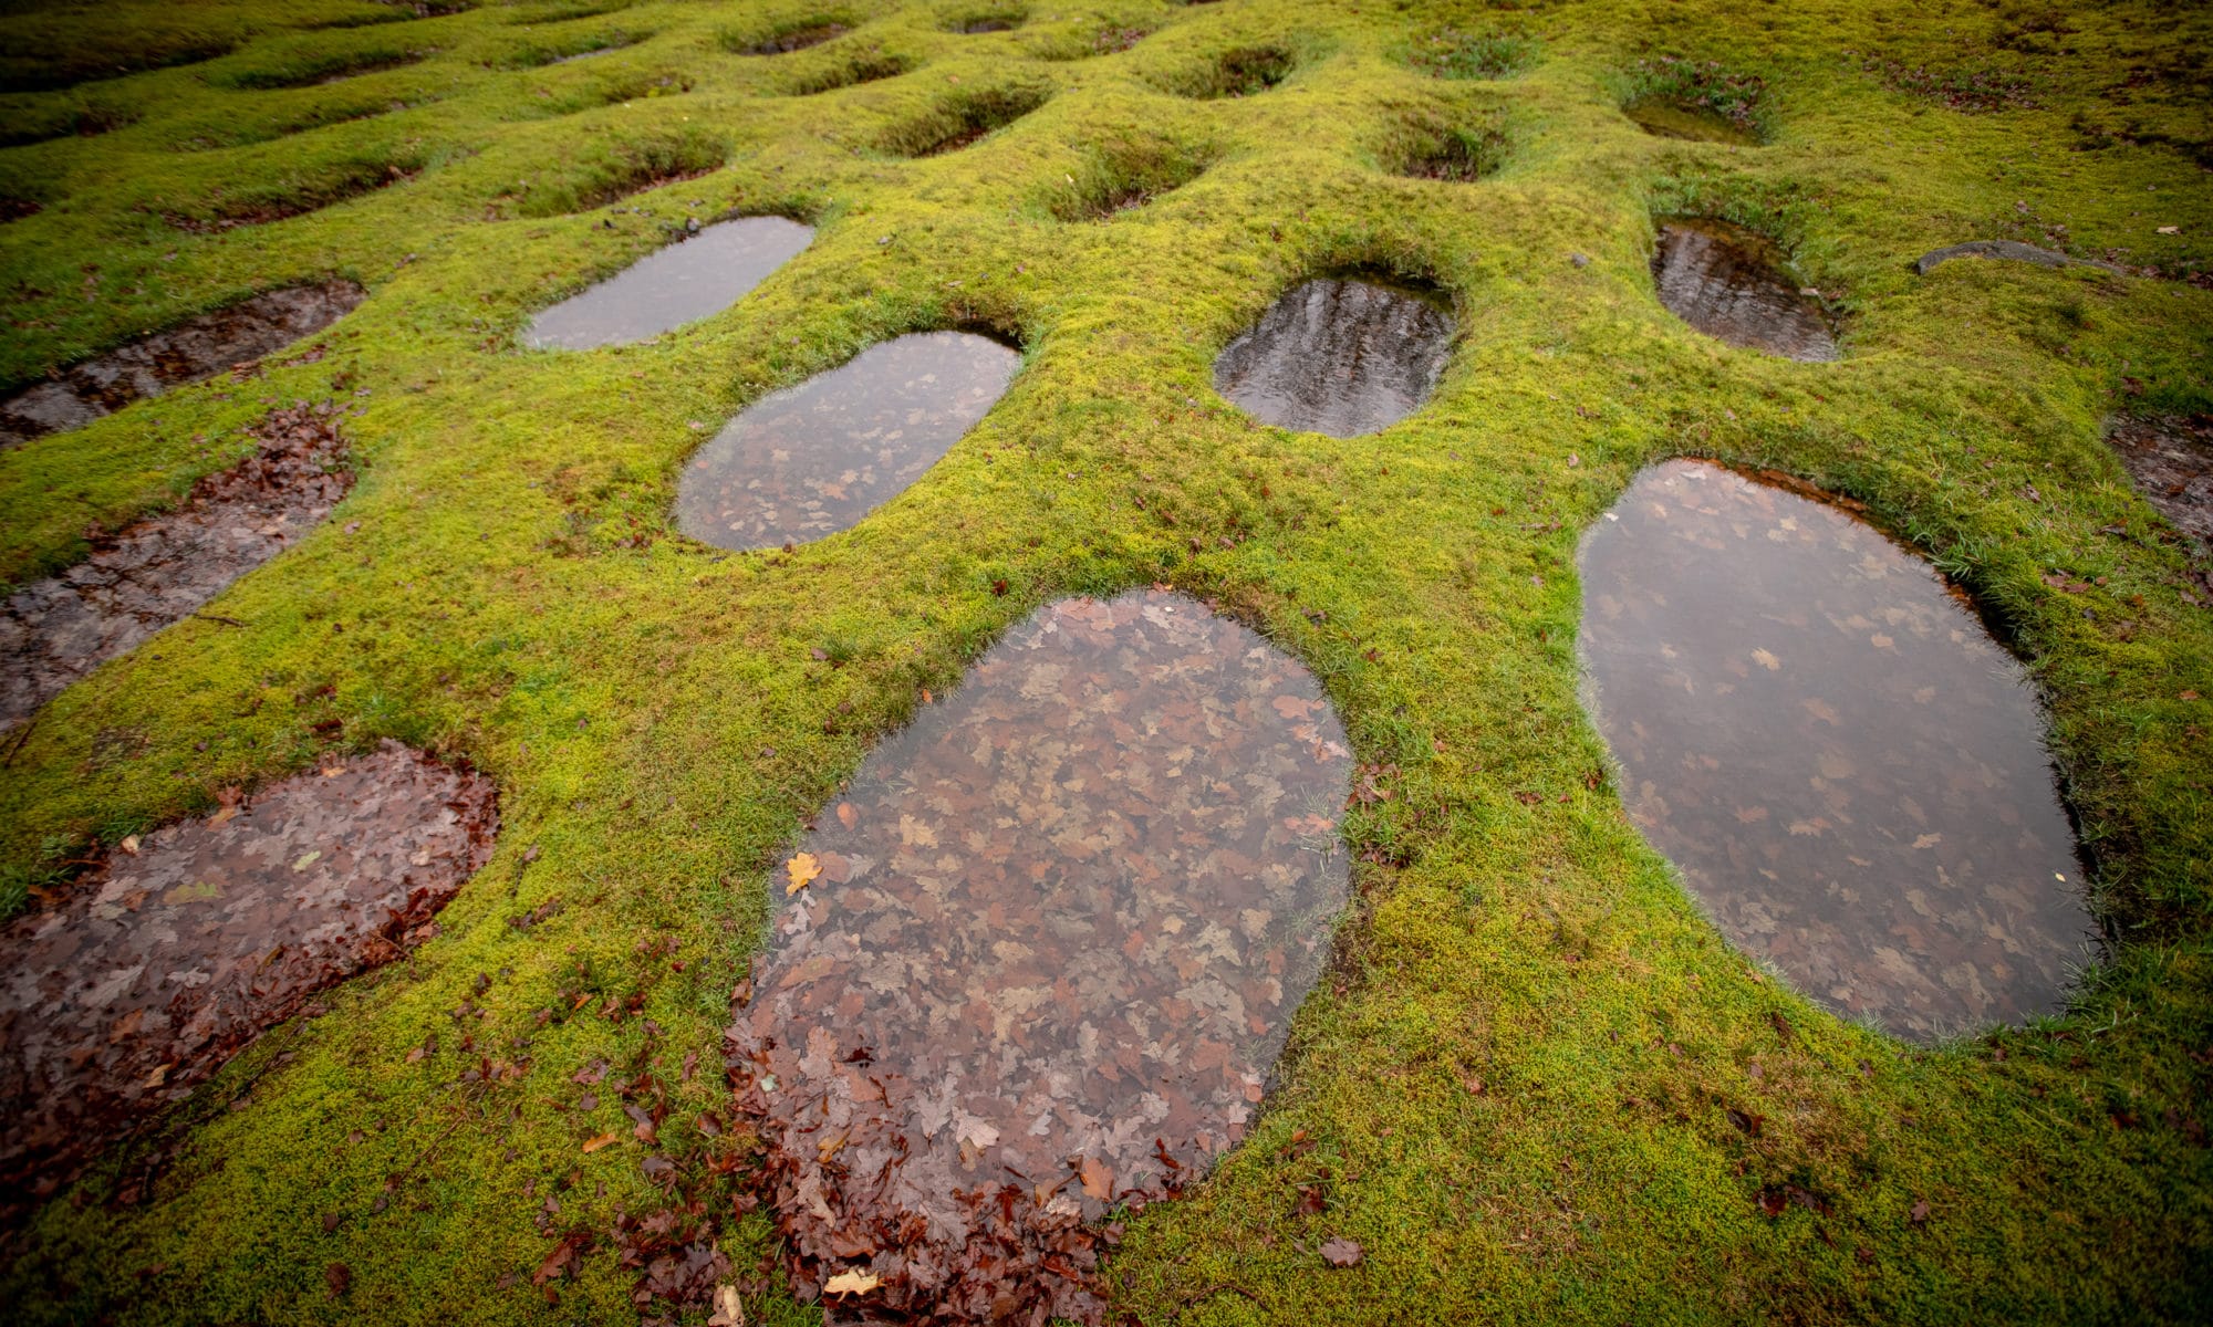
<svg viewBox="0 0 2213 1327"><path fill-rule="evenodd" d="M1775 245L1726 221L1669 221L1653 252L1660 303L1706 336L1795 361L1837 358L1812 299L1781 270Z"/></svg>

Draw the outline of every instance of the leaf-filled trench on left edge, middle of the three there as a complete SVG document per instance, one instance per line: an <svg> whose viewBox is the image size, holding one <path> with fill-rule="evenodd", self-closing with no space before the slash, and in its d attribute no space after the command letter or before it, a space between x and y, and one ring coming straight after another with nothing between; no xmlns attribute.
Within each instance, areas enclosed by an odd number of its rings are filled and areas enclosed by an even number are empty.
<svg viewBox="0 0 2213 1327"><path fill-rule="evenodd" d="M0 604L0 732L314 529L352 487L330 403L270 411L261 449L164 515L102 535L62 575ZM217 619L221 621L221 619Z"/></svg>

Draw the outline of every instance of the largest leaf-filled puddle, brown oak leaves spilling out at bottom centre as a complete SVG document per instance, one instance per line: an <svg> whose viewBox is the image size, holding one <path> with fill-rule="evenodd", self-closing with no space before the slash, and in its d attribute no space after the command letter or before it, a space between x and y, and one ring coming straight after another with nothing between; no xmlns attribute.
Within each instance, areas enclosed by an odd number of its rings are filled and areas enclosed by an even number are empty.
<svg viewBox="0 0 2213 1327"><path fill-rule="evenodd" d="M1038 610L779 876L730 1026L794 1283L1098 1320L1111 1201L1244 1132L1346 900L1321 688L1173 593Z"/></svg>

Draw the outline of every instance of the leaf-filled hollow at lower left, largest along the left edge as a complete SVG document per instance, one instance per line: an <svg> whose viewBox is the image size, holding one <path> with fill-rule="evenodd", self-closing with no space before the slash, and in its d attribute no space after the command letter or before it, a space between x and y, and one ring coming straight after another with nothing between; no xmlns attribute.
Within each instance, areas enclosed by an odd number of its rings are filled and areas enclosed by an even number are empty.
<svg viewBox="0 0 2213 1327"><path fill-rule="evenodd" d="M0 1219L310 997L436 933L491 856L496 790L398 743L113 851L7 927Z"/></svg>

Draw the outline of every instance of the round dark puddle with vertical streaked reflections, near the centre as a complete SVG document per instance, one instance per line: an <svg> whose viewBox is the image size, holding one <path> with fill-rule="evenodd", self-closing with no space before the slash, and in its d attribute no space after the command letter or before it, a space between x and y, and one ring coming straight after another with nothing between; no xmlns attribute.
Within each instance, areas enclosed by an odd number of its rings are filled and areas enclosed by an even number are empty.
<svg viewBox="0 0 2213 1327"><path fill-rule="evenodd" d="M1215 389L1284 429L1352 438L1421 409L1452 356L1452 314L1376 285L1323 276L1290 288L1215 361Z"/></svg>

